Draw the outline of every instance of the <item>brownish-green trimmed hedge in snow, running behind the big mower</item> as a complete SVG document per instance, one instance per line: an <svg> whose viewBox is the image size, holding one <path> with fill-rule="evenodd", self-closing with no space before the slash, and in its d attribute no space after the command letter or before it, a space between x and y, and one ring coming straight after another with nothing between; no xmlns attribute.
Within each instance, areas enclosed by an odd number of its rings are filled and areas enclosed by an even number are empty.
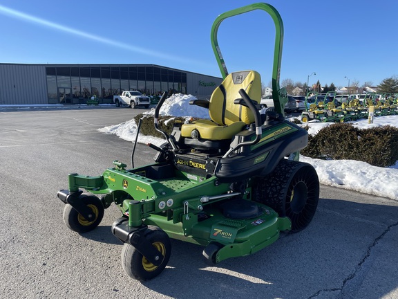
<svg viewBox="0 0 398 299"><path fill-rule="evenodd" d="M135 122L138 123L140 118L141 134L163 138L153 126L153 116L138 114ZM170 134L174 123L185 121L182 117L160 116L158 126ZM388 167L398 161L398 128L387 125L359 129L350 123L335 123L319 130L315 136L308 136L308 145L301 154L310 158L357 160Z"/></svg>

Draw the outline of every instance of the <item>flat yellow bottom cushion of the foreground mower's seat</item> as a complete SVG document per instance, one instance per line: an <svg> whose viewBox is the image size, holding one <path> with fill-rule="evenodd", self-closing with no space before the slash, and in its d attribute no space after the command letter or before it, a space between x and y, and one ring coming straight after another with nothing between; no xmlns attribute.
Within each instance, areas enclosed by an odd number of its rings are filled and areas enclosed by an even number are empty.
<svg viewBox="0 0 398 299"><path fill-rule="evenodd" d="M231 125L220 126L211 120L195 120L181 127L181 136L191 138L193 129L197 129L200 138L209 140L231 139L244 129L245 122L231 123Z"/></svg>

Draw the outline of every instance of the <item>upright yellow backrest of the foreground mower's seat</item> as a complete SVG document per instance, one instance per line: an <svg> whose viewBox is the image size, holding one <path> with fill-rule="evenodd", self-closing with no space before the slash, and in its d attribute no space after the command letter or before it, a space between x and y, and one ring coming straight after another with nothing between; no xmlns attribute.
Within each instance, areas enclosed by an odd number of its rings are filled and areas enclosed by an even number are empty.
<svg viewBox="0 0 398 299"><path fill-rule="evenodd" d="M234 100L242 98L240 89L260 103L261 78L256 71L239 71L230 73L214 90L209 102L209 116L218 125L231 125L243 121L249 125L254 122L254 115L249 108L234 104Z"/></svg>

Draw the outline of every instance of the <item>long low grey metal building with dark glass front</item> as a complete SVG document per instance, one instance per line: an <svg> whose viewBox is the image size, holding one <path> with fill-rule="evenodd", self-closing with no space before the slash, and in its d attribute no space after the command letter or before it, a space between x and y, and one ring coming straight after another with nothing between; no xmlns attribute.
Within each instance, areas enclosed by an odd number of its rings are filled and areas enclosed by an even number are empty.
<svg viewBox="0 0 398 299"><path fill-rule="evenodd" d="M155 64L0 64L0 105L111 103L123 90L209 98L221 82Z"/></svg>

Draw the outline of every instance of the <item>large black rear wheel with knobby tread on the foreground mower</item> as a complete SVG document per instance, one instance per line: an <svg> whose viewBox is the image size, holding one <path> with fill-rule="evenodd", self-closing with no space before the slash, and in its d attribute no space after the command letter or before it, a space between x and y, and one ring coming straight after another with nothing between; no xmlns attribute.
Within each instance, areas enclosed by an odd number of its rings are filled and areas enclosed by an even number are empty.
<svg viewBox="0 0 398 299"><path fill-rule="evenodd" d="M254 179L252 192L254 201L274 209L279 217L288 217L292 232L297 232L314 217L319 179L312 165L282 159L274 172Z"/></svg>

